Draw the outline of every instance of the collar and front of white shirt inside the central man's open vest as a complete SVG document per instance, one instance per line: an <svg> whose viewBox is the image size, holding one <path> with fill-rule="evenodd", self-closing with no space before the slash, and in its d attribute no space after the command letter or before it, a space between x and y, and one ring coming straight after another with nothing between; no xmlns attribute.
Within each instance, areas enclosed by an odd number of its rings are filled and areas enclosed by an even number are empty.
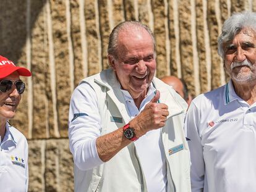
<svg viewBox="0 0 256 192"><path fill-rule="evenodd" d="M126 90L121 90L126 100L127 108L131 119L136 117L155 96L156 89L150 85L145 99L140 104L140 109L135 106L134 99ZM167 186L166 177L166 157L164 155L163 143L161 141L161 130L148 131L135 141L137 156L139 156L140 165L147 182L148 192L164 192Z"/></svg>

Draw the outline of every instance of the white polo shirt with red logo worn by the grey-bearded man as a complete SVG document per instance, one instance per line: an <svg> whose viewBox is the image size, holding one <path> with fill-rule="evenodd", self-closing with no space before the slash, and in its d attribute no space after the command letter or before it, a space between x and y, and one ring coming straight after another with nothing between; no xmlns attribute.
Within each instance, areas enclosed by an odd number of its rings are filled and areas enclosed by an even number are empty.
<svg viewBox="0 0 256 192"><path fill-rule="evenodd" d="M256 102L249 106L229 81L192 101L185 130L192 192L256 191Z"/></svg>

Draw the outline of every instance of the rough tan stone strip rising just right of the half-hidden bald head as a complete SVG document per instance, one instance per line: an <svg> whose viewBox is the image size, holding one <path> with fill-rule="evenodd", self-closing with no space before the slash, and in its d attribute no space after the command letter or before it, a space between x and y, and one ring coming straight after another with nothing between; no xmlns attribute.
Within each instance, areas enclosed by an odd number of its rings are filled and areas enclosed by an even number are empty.
<svg viewBox="0 0 256 192"><path fill-rule="evenodd" d="M187 87L192 95L195 95L193 48L191 34L191 11L190 2L179 1L179 33L181 44L181 71L182 78L187 82Z"/></svg>

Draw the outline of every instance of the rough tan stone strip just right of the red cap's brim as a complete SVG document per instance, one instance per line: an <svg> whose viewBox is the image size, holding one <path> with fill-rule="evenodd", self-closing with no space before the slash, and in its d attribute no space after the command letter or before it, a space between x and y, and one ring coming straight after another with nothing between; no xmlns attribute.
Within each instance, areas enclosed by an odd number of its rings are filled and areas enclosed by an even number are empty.
<svg viewBox="0 0 256 192"><path fill-rule="evenodd" d="M45 28L45 16L43 12L36 14L34 10L40 9L44 6L44 1L31 1L30 5L30 26L31 30L31 70L33 72L33 138L46 138L46 62L48 57L47 40L45 39L47 31Z"/></svg>

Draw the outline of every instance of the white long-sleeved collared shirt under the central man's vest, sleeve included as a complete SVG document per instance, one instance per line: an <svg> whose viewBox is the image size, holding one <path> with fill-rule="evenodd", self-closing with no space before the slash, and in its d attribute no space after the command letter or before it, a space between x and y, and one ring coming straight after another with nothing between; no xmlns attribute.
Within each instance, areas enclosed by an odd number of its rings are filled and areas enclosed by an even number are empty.
<svg viewBox="0 0 256 192"><path fill-rule="evenodd" d="M127 109L130 119L134 118L141 112L145 105L155 95L155 88L148 88L148 93L143 99L140 110L135 106L134 100L129 92L122 90L126 100ZM80 84L72 95L69 109L69 136L74 135L74 131L80 131L79 135L69 138L72 143L82 143L82 147L77 145L71 146L74 159L84 161L83 170L92 169L103 162L96 150L96 138L100 136L100 114L98 112L98 101L96 93L88 83ZM75 117L74 114L87 114ZM74 142L77 141L77 142ZM158 144L156 144L158 143ZM149 131L146 135L135 141L136 151L142 165L142 170L147 182L148 191L166 191L166 159L161 146L160 129ZM81 159L81 160L80 160Z"/></svg>

